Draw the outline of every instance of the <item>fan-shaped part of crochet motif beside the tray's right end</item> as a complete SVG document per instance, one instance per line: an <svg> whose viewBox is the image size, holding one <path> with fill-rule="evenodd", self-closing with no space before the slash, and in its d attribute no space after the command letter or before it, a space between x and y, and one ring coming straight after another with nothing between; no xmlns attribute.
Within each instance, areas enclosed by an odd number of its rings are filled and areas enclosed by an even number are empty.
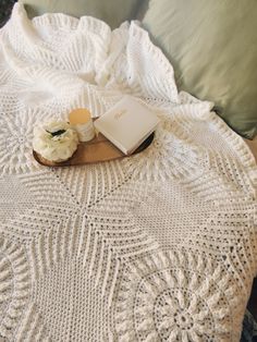
<svg viewBox="0 0 257 342"><path fill-rule="evenodd" d="M179 127L178 127L179 129ZM170 118L166 118L156 133L151 145L143 152L125 158L128 170L134 176L148 181L166 181L181 179L197 170L203 155L186 143L186 138L172 131Z"/></svg>

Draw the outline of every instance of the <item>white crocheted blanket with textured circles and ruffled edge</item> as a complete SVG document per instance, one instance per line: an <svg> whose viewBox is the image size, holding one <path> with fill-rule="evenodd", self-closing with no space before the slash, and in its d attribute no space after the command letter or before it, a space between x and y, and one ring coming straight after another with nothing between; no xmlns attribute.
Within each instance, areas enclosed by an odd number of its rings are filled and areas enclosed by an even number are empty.
<svg viewBox="0 0 257 342"><path fill-rule="evenodd" d="M161 119L119 161L45 168L37 122L123 94ZM0 341L238 341L257 273L257 168L212 103L178 93L136 23L21 4L0 32ZM139 113L138 113L139 115Z"/></svg>

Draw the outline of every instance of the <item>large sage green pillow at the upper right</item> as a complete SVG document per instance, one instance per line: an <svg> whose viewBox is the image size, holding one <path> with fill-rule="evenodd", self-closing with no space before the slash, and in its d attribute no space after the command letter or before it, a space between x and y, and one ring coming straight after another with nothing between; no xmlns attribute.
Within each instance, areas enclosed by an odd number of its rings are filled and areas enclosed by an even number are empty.
<svg viewBox="0 0 257 342"><path fill-rule="evenodd" d="M257 134L256 0L151 0L143 25L180 89L212 100L237 133Z"/></svg>

